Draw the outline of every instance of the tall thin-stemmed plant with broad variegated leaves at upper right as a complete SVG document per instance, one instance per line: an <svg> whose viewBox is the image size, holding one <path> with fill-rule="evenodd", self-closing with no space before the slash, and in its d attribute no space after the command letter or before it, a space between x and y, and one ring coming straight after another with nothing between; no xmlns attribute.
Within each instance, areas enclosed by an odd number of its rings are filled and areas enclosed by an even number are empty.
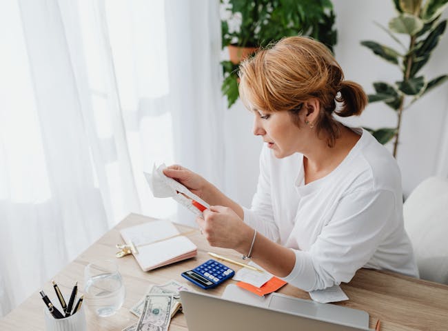
<svg viewBox="0 0 448 331"><path fill-rule="evenodd" d="M402 50L381 45L375 41L361 41L361 45L369 48L374 54L400 68L403 76L400 81L386 83L375 82L375 94L369 94L369 103L383 101L397 115L395 128L366 128L380 143L394 139L394 157L397 154L398 139L403 111L430 90L448 80L447 74L442 74L429 81L420 73L429 61L431 52L445 32L447 20L441 20L440 15L448 6L448 0L394 0L398 16L389 21L389 27L383 28ZM396 34L405 34L409 43L405 46Z"/></svg>

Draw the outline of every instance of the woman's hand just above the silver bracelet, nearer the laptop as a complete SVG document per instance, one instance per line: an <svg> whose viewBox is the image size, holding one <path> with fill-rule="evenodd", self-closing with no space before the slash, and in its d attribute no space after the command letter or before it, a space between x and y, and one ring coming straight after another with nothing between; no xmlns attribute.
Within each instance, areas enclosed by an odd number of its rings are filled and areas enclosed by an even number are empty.
<svg viewBox="0 0 448 331"><path fill-rule="evenodd" d="M254 235L254 230L236 212L222 205L211 205L210 209L204 210L203 218L196 218L196 223L214 247L245 250Z"/></svg>

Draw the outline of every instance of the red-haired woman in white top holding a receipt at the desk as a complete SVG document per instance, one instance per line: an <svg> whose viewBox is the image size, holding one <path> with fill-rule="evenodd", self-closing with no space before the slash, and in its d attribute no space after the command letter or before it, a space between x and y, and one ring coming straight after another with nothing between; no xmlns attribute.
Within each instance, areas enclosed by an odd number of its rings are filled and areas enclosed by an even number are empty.
<svg viewBox="0 0 448 331"><path fill-rule="evenodd" d="M369 132L334 118L360 114L367 97L344 80L329 50L285 38L244 61L239 74L254 134L265 142L252 208L179 165L164 171L210 203L196 219L210 245L250 256L307 291L349 282L363 267L418 277L400 170Z"/></svg>

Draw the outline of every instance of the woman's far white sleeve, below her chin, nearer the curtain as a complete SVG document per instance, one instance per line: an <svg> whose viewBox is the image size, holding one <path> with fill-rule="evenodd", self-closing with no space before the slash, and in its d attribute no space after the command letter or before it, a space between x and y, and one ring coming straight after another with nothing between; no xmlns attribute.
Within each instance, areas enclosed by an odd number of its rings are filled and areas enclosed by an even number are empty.
<svg viewBox="0 0 448 331"><path fill-rule="evenodd" d="M260 155L260 175L256 193L250 209L243 207L244 222L255 228L272 241L280 238L278 227L274 222L272 210L271 185L269 176L269 150L263 146Z"/></svg>

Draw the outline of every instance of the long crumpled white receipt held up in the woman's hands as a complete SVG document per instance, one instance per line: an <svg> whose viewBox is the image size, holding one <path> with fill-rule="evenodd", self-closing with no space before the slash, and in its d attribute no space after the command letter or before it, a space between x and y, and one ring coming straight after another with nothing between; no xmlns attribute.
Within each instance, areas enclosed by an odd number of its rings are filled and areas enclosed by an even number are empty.
<svg viewBox="0 0 448 331"><path fill-rule="evenodd" d="M196 194L193 194L190 190L185 188L184 185L170 177L166 177L163 173L163 169L165 168L167 168L165 164L160 165L159 168L156 168L156 165L154 164L154 168L152 168L152 174L143 172L143 174L145 174L148 185L150 185L154 197L172 197L174 200L181 203L181 205L191 210L197 216L201 216L202 212L201 210L198 210L198 208L196 208L194 205L192 205L192 199L194 199L194 201L197 201L198 203L201 203L201 205L203 205L205 208L210 208L210 205L208 203L203 201ZM186 194L191 199L188 199L182 193Z"/></svg>

